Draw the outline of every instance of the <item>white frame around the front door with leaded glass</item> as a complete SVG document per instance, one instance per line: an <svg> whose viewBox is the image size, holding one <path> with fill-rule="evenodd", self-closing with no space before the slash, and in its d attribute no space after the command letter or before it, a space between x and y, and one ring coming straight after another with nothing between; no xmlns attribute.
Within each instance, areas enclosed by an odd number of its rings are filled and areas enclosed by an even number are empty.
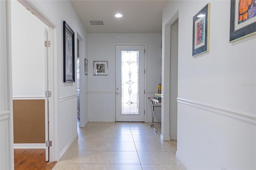
<svg viewBox="0 0 256 170"><path fill-rule="evenodd" d="M144 90L145 90L145 94L144 94L144 110L145 110L145 113L147 113L147 107L146 107L146 102L147 102L147 99L146 99L146 94L147 94L147 43L114 43L113 44L114 46L113 46L113 54L114 55L116 55L116 45L144 45L145 46L145 59L144 59L144 69L145 69L145 77L144 77ZM115 57L115 59L114 59L114 65L116 65L116 57ZM115 91L116 91L116 78L114 79L114 89L113 89L113 91L114 91L114 94L116 94L115 93ZM116 108L116 97L114 98L114 108ZM116 113L114 113L113 114L113 121L115 121L116 120ZM144 121L146 121L147 120L147 114L145 114L144 115Z"/></svg>

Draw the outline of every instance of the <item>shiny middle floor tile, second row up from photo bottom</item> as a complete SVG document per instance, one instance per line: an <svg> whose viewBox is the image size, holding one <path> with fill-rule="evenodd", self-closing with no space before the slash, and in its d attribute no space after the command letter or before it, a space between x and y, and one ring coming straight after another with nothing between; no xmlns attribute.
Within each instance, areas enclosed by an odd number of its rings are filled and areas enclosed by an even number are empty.
<svg viewBox="0 0 256 170"><path fill-rule="evenodd" d="M106 152L104 164L140 164L137 152L115 151Z"/></svg>

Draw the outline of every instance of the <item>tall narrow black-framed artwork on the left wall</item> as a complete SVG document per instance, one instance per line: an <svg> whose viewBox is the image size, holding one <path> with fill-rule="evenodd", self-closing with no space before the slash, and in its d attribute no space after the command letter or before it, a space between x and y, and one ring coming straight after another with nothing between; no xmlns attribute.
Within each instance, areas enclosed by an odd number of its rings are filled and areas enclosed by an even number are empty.
<svg viewBox="0 0 256 170"><path fill-rule="evenodd" d="M63 21L63 75L64 82L75 82L75 34Z"/></svg>

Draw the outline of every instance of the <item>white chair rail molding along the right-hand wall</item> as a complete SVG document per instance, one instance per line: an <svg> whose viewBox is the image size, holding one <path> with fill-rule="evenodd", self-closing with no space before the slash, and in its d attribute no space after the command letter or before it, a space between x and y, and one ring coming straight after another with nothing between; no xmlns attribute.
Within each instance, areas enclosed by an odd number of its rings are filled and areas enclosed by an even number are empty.
<svg viewBox="0 0 256 170"><path fill-rule="evenodd" d="M221 108L218 108L218 107L213 107L213 106L210 106L210 105L206 105L204 103L199 103L199 102L196 102L196 101L191 101L191 100L182 99L182 98L177 98L177 102L185 104L185 105L190 105L190 106L193 106L193 107L201 108L201 109L206 109L206 110L212 111L214 113L218 113L218 114L221 114L221 115L225 115L225 116L228 116L228 117L233 117L233 118L236 118L236 119L239 119L239 120L242 120L242 121L246 121L246 122L249 122L249 123L256 124L256 115L252 115L250 113L241 113L241 112L236 112L236 111L229 111L229 110L226 110L226 109L221 109Z"/></svg>

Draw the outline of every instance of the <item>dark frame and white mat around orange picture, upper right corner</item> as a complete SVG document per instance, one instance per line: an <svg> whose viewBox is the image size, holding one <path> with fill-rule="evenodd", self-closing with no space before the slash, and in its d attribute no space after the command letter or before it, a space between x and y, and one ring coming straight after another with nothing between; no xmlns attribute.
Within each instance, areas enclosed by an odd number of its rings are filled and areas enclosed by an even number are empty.
<svg viewBox="0 0 256 170"><path fill-rule="evenodd" d="M239 15L239 13L237 13L238 15L236 19L236 10L238 10L236 8L239 8L236 4L238 4L239 2L240 1L236 2L236 0L230 1L230 42L235 42L237 40L241 40L242 38L246 38L248 36L256 34L256 22L248 22L248 24L244 24L245 26L243 26L242 28L236 28L236 26L238 26ZM253 0L252 3L254 4L251 4L250 8L256 8L256 2Z"/></svg>

